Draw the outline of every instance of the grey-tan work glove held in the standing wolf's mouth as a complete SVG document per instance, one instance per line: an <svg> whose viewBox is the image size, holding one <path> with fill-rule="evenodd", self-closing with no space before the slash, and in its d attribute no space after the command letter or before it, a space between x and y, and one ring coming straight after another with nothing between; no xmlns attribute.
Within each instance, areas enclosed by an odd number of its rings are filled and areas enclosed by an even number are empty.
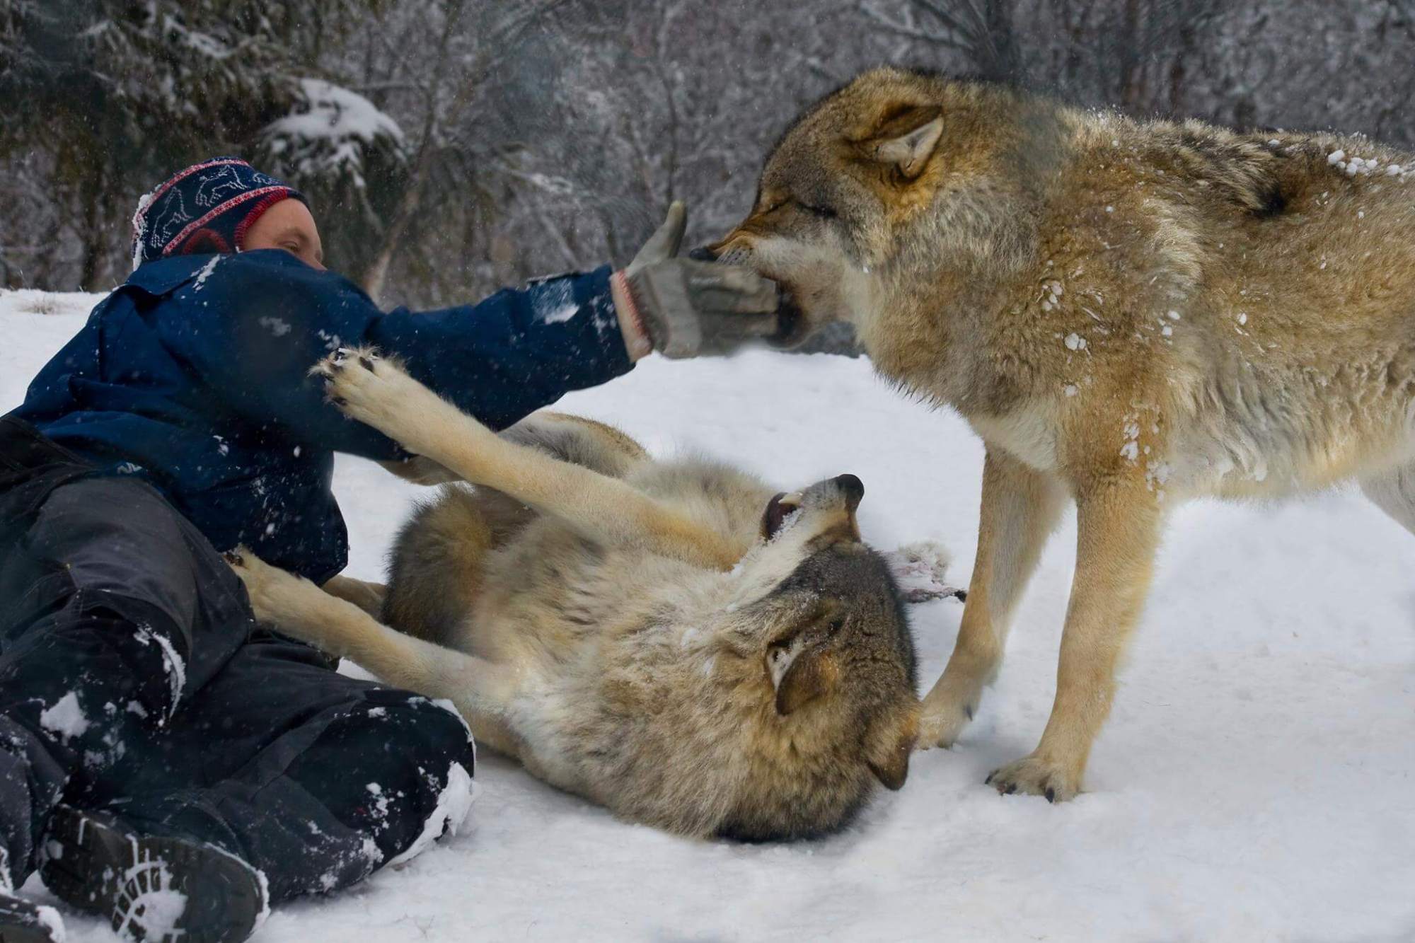
<svg viewBox="0 0 1415 943"><path fill-rule="evenodd" d="M688 228L681 201L628 268L610 279L630 357L727 354L777 333L777 286L751 269L679 258Z"/></svg>

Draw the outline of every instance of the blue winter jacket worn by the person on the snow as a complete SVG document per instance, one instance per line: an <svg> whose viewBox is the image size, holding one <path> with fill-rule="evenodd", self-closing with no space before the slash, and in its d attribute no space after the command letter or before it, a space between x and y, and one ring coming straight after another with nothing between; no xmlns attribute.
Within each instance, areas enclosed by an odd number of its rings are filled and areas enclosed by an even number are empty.
<svg viewBox="0 0 1415 943"><path fill-rule="evenodd" d="M406 455L327 404L310 367L371 344L501 429L630 370L608 276L385 313L282 249L149 262L93 309L14 415L106 473L142 476L216 549L245 544L323 582L348 559L334 453Z"/></svg>

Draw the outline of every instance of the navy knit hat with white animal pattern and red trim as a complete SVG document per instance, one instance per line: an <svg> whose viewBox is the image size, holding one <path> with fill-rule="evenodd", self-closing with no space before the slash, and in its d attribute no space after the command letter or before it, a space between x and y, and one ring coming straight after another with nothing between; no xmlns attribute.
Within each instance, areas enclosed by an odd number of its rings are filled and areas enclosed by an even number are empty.
<svg viewBox="0 0 1415 943"><path fill-rule="evenodd" d="M289 197L308 205L297 190L239 157L192 164L137 201L133 268L168 255L241 252L246 229Z"/></svg>

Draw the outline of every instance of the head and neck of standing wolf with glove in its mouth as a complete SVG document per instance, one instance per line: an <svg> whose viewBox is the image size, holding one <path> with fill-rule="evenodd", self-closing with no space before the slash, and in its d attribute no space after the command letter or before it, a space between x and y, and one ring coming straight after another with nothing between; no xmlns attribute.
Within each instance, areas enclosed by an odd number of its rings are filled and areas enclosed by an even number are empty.
<svg viewBox="0 0 1415 943"><path fill-rule="evenodd" d="M1010 266L1054 164L1058 112L986 82L874 69L787 129L741 224L710 248L782 289L778 343L859 321L940 256Z"/></svg>

